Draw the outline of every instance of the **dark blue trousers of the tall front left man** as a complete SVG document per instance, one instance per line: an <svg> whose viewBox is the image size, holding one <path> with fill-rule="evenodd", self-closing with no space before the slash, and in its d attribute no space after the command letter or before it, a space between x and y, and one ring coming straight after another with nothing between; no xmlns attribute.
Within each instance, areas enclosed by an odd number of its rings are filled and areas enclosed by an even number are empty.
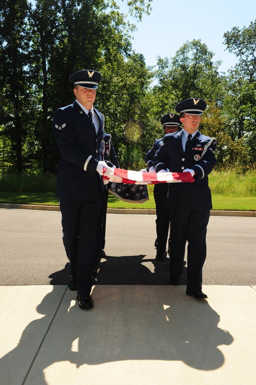
<svg viewBox="0 0 256 385"><path fill-rule="evenodd" d="M90 294L95 265L96 229L101 200L96 202L60 199L63 244L76 277L77 292Z"/></svg>

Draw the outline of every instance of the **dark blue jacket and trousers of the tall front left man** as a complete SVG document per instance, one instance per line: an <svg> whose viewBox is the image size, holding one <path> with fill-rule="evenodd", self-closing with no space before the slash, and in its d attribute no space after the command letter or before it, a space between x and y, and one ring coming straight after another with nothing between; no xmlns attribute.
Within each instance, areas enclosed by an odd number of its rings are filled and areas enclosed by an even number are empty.
<svg viewBox="0 0 256 385"><path fill-rule="evenodd" d="M96 254L96 227L104 185L96 171L102 160L104 116L94 108L99 131L74 102L58 109L53 128L60 162L57 197L62 213L63 243L70 260L70 273L77 280L77 292L90 294Z"/></svg>

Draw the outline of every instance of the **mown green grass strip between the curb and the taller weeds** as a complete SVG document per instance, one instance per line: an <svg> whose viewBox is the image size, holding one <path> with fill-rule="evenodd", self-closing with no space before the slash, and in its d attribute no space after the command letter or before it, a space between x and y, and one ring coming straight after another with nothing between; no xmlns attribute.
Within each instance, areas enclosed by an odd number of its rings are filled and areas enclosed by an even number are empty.
<svg viewBox="0 0 256 385"><path fill-rule="evenodd" d="M58 206L59 201L54 192L0 192L0 203L39 204ZM144 203L128 203L109 195L109 208L137 208L154 209L155 202L153 195ZM229 197L213 195L214 210L239 210L256 211L256 197Z"/></svg>

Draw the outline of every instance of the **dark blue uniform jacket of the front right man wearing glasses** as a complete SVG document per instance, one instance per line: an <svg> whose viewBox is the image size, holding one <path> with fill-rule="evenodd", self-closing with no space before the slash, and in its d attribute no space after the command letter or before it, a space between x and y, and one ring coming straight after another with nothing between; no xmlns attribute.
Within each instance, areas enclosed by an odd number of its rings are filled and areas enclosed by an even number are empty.
<svg viewBox="0 0 256 385"><path fill-rule="evenodd" d="M171 172L183 172L189 168L196 172L194 183L170 183L168 206L184 210L210 210L211 190L208 174L216 164L214 155L216 139L202 135L199 131L190 141L186 153L183 152L182 131L167 134L153 157L155 171L169 168Z"/></svg>

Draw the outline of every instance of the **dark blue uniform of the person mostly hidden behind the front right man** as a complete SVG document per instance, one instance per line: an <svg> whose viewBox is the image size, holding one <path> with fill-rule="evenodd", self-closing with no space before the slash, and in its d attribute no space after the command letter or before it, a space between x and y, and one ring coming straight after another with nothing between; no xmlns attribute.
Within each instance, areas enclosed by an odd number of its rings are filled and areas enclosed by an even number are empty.
<svg viewBox="0 0 256 385"><path fill-rule="evenodd" d="M145 161L148 168L153 166L152 158L160 148L163 138L157 139L153 147L146 153ZM156 209L156 237L157 255L161 255L166 250L166 242L169 232L169 208L167 207L168 183L154 185L154 200Z"/></svg>

